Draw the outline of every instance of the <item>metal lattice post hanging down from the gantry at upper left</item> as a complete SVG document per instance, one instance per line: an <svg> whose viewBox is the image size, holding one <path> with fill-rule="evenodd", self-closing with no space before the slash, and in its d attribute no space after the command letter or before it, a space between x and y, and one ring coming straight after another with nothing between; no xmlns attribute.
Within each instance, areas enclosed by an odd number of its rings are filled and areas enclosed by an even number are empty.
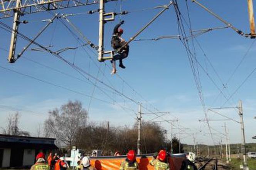
<svg viewBox="0 0 256 170"><path fill-rule="evenodd" d="M21 4L21 0L16 0L16 8L19 8ZM15 62L15 48L16 48L16 42L17 42L17 34L18 34L18 28L20 24L20 15L22 13L19 9L14 10L14 18L13 18L13 26L12 26L12 37L11 37L11 44L10 44L10 50L8 55L8 62L13 63Z"/></svg>

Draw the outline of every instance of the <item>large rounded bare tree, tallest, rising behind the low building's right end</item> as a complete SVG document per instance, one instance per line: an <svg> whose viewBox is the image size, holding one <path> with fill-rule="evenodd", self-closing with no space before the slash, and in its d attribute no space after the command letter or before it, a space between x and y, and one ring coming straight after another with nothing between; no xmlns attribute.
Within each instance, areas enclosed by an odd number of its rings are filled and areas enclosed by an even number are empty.
<svg viewBox="0 0 256 170"><path fill-rule="evenodd" d="M85 127L88 113L79 101L69 101L49 111L49 117L44 122L45 137L55 137L57 145L74 145L81 127Z"/></svg>

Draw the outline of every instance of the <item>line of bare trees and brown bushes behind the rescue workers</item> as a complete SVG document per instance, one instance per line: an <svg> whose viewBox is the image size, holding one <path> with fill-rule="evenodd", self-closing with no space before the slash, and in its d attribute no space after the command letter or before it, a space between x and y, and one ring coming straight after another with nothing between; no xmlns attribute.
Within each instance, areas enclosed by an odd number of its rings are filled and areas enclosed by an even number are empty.
<svg viewBox="0 0 256 170"><path fill-rule="evenodd" d="M44 132L45 137L56 138L57 145L66 146L68 150L76 146L87 153L97 149L101 150L103 155L113 155L117 150L126 154L128 150L137 148L136 122L132 127L113 127L108 122L88 122L88 113L79 101L69 101L61 108L50 111L48 119L44 122ZM157 123L143 122L141 152L153 153L161 148L170 151L171 143L165 136L166 131ZM175 152L179 152L178 143L177 139L173 142Z"/></svg>

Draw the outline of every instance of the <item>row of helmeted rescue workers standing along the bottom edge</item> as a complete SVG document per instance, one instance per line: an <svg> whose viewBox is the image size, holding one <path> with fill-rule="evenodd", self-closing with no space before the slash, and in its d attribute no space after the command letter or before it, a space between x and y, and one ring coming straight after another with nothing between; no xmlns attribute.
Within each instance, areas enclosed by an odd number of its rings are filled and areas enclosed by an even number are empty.
<svg viewBox="0 0 256 170"><path fill-rule="evenodd" d="M120 156L120 152L117 151L115 156ZM153 154L153 159L150 160L149 164L155 170L170 170L168 157L170 157L170 154L166 150L160 150ZM192 153L187 153L185 160L182 161L180 170L197 170L197 167L193 163L194 157ZM69 168L69 165L57 153L54 156L50 153L46 160L44 153L40 152L37 154L36 162L30 170L66 170L67 168ZM91 165L90 157L84 156L77 161L76 170L96 170L96 168ZM125 160L120 164L119 170L139 170L135 150L130 150L127 153Z"/></svg>

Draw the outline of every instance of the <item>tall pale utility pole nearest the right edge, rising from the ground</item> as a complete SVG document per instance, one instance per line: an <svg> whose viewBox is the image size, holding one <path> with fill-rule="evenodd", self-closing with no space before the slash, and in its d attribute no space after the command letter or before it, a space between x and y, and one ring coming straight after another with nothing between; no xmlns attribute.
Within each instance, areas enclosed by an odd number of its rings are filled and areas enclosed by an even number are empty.
<svg viewBox="0 0 256 170"><path fill-rule="evenodd" d="M243 170L249 170L249 167L247 166L247 160L246 160L246 146L245 146L245 134L244 134L244 117L243 117L243 107L242 107L242 101L239 100L239 106L238 106L238 114L240 116L240 123L241 123L241 131L242 131L242 138L243 138L243 143L242 143L242 149L243 149Z"/></svg>

